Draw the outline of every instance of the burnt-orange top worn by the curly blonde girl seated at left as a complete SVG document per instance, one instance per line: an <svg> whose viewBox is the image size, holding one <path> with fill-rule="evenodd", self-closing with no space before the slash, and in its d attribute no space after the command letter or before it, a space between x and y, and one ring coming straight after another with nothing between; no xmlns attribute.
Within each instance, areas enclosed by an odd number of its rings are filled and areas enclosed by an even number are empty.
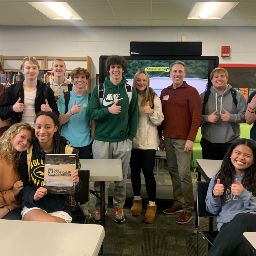
<svg viewBox="0 0 256 256"><path fill-rule="evenodd" d="M19 173L13 163L5 157L0 158L0 207L7 206L9 210L21 207L21 197L14 196L13 184L20 180Z"/></svg>

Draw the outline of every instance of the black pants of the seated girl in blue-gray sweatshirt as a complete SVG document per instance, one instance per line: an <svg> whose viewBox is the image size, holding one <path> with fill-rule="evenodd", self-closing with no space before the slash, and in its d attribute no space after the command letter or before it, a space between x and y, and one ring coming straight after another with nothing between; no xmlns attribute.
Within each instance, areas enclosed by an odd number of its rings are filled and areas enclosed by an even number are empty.
<svg viewBox="0 0 256 256"><path fill-rule="evenodd" d="M256 214L239 213L224 224L207 256L251 256L252 250L243 240L244 232L256 232Z"/></svg>

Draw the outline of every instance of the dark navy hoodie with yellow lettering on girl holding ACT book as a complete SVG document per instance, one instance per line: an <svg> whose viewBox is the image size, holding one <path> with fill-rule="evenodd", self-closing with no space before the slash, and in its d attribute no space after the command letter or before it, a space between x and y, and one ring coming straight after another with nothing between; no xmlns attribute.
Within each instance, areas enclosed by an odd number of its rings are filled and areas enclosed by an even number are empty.
<svg viewBox="0 0 256 256"><path fill-rule="evenodd" d="M54 154L54 150L48 154ZM72 154L77 155L77 151L74 149ZM77 157L76 168L79 166L79 160ZM45 173L45 152L41 149L39 141L37 139L33 142L33 150L30 164L30 179L29 182L28 165L27 165L27 151L21 154L19 160L19 173L24 188L21 190L20 195L22 197L22 205L27 208L38 207L42 210L50 212L65 211L71 215L72 208L68 199L64 195L59 194L47 194L38 201L34 200L34 195L39 187L44 187L44 173ZM81 180L75 186L75 194L78 193L82 186Z"/></svg>

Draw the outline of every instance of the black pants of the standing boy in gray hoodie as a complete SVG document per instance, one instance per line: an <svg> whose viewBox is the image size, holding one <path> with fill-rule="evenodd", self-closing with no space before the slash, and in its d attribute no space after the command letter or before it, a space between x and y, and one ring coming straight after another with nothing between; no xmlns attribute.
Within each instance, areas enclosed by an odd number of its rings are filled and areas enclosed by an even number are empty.
<svg viewBox="0 0 256 256"><path fill-rule="evenodd" d="M223 160L224 156L228 152L228 148L233 143L211 143L202 138L200 144L202 147L203 159Z"/></svg>

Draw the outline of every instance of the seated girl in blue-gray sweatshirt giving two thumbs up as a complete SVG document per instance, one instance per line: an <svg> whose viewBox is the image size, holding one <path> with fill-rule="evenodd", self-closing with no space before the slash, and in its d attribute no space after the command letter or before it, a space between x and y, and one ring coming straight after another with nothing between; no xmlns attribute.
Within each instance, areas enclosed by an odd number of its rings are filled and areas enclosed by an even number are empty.
<svg viewBox="0 0 256 256"><path fill-rule="evenodd" d="M256 232L256 144L233 143L211 179L206 209L217 215L219 234L207 256L249 256L244 232Z"/></svg>

